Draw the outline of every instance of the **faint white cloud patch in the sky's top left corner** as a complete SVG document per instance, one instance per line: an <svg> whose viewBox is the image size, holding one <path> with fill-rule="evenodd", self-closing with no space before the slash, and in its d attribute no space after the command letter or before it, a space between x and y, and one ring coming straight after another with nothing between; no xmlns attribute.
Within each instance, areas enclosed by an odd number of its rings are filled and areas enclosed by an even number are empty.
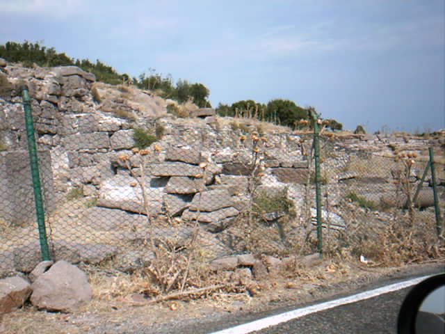
<svg viewBox="0 0 445 334"><path fill-rule="evenodd" d="M3 15L46 16L64 19L77 13L84 0L0 0Z"/></svg>

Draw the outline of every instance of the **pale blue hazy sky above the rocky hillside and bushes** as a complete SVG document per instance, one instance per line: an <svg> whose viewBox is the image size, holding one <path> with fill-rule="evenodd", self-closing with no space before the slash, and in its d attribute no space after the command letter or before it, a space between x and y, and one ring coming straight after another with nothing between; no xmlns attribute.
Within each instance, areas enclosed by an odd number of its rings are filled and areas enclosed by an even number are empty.
<svg viewBox="0 0 445 334"><path fill-rule="evenodd" d="M0 0L0 44L42 42L211 103L314 106L368 132L445 128L445 0Z"/></svg>

